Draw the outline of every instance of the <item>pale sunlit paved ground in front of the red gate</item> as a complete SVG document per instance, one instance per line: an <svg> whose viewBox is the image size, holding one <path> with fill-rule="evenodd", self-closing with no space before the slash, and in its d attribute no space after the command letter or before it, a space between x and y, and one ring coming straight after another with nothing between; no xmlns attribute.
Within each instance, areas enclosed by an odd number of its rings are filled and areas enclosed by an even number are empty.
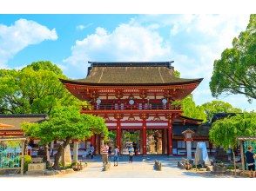
<svg viewBox="0 0 256 191"><path fill-rule="evenodd" d="M154 160L162 162L162 171L153 169ZM102 162L100 157L88 160L88 167L84 170L67 174L56 175L54 177L64 178L210 178L210 177L228 177L214 176L208 172L190 172L177 168L177 162L181 158L167 156L134 156L132 163L128 162L128 156L121 156L118 167L113 166L109 171L102 171Z"/></svg>

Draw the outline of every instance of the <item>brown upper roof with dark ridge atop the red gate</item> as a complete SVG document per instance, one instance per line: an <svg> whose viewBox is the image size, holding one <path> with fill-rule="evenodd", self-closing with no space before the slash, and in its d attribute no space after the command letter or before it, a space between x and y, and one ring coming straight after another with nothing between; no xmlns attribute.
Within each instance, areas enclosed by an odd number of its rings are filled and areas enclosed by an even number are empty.
<svg viewBox="0 0 256 191"><path fill-rule="evenodd" d="M174 76L172 62L91 63L85 79L75 83L98 84L179 84L201 82L203 79L185 79ZM62 80L63 82L68 82Z"/></svg>

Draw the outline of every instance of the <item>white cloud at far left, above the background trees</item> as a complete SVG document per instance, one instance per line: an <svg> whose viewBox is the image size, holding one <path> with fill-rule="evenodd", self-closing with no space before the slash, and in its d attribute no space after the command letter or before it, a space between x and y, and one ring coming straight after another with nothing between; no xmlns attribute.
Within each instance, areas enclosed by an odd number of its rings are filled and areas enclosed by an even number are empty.
<svg viewBox="0 0 256 191"><path fill-rule="evenodd" d="M0 24L0 64L5 65L22 49L44 40L57 40L56 30L26 19L10 26Z"/></svg>

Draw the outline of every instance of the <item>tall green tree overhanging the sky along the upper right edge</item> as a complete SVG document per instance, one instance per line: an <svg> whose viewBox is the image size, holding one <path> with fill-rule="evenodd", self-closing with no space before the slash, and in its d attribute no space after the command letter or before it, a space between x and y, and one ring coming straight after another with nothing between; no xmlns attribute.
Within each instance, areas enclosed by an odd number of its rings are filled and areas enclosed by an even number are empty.
<svg viewBox="0 0 256 191"><path fill-rule="evenodd" d="M256 15L233 39L232 48L214 61L210 89L214 97L226 93L246 95L249 102L256 98Z"/></svg>

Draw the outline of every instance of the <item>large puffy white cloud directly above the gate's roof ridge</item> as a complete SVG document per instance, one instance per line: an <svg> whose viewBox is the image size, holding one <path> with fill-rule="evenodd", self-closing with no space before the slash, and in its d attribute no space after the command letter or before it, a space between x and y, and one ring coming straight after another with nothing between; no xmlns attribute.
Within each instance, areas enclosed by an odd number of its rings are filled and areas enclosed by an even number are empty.
<svg viewBox="0 0 256 191"><path fill-rule="evenodd" d="M137 23L123 23L109 32L98 27L94 34L77 40L71 56L64 60L84 77L87 61L158 61L170 60L171 47L158 34L157 25L145 28ZM83 72L83 73L81 73Z"/></svg>

